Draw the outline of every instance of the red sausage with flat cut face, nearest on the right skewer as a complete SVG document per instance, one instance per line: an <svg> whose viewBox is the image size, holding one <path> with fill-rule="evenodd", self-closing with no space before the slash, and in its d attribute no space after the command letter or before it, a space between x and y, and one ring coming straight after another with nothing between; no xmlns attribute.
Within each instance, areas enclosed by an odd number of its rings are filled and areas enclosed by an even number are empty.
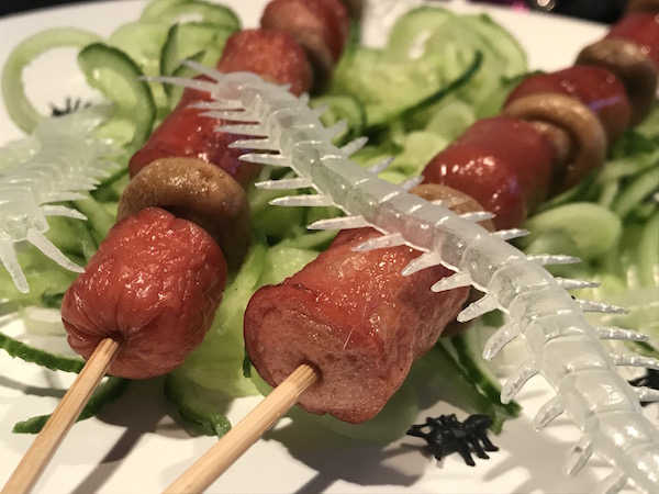
<svg viewBox="0 0 659 494"><path fill-rule="evenodd" d="M349 423L384 406L469 293L432 292L450 273L443 267L403 277L420 255L409 247L353 250L377 235L340 232L302 271L258 290L245 312L245 344L259 374L277 385L301 363L315 366L321 379L301 406Z"/></svg>

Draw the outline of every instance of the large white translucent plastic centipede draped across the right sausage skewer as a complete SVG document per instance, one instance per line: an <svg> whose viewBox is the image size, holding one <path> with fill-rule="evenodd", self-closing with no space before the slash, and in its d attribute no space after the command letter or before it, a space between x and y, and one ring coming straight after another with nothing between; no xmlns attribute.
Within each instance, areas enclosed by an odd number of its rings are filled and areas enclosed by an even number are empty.
<svg viewBox="0 0 659 494"><path fill-rule="evenodd" d="M529 358L513 372L502 389L509 402L534 374L540 373L556 391L541 407L535 426L541 428L566 413L581 429L565 472L573 474L595 452L613 472L593 492L615 493L625 485L640 492L659 489L659 431L641 413L639 401L657 401L659 393L635 389L617 372L616 366L658 369L652 359L611 355L601 339L645 339L640 334L617 327L593 327L585 312L623 312L621 307L576 300L569 289L592 287L582 280L554 278L543 265L572 262L568 256L526 256L505 239L521 231L489 233L476 222L489 213L458 215L440 203L431 203L407 193L418 183L411 179L394 186L378 179L386 166L361 168L348 156L366 139L344 148L331 139L336 128L325 128L319 111L310 110L305 96L297 98L284 87L273 86L246 72L223 75L198 64L189 64L212 80L159 78L212 94L199 103L205 115L221 120L217 132L254 138L233 147L254 149L243 160L289 167L297 178L266 181L265 189L313 188L317 194L279 198L279 205L335 205L345 217L324 220L310 228L356 228L371 226L382 236L359 249L405 244L423 254L404 268L411 274L443 265L455 271L438 281L434 291L473 285L484 295L466 307L459 321L500 310L509 323L488 341L484 357L492 358L514 338L523 338ZM226 122L235 122L227 124ZM263 153L258 153L263 151Z"/></svg>

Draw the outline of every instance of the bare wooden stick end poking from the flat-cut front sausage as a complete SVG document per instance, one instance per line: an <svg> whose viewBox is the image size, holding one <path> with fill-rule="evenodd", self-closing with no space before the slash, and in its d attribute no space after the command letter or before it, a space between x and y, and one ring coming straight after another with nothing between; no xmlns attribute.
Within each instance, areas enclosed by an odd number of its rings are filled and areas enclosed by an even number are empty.
<svg viewBox="0 0 659 494"><path fill-rule="evenodd" d="M190 494L205 491L291 409L319 378L313 367L300 366L164 492Z"/></svg>

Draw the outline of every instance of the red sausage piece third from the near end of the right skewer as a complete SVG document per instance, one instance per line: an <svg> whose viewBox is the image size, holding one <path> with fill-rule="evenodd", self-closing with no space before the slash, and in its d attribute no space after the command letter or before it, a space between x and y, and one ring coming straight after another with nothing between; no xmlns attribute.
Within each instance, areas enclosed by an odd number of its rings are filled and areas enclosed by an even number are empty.
<svg viewBox="0 0 659 494"><path fill-rule="evenodd" d="M606 69L578 65L552 74L530 76L511 92L504 108L538 92L558 92L580 100L597 115L610 144L617 141L629 125L632 108L625 87Z"/></svg>

